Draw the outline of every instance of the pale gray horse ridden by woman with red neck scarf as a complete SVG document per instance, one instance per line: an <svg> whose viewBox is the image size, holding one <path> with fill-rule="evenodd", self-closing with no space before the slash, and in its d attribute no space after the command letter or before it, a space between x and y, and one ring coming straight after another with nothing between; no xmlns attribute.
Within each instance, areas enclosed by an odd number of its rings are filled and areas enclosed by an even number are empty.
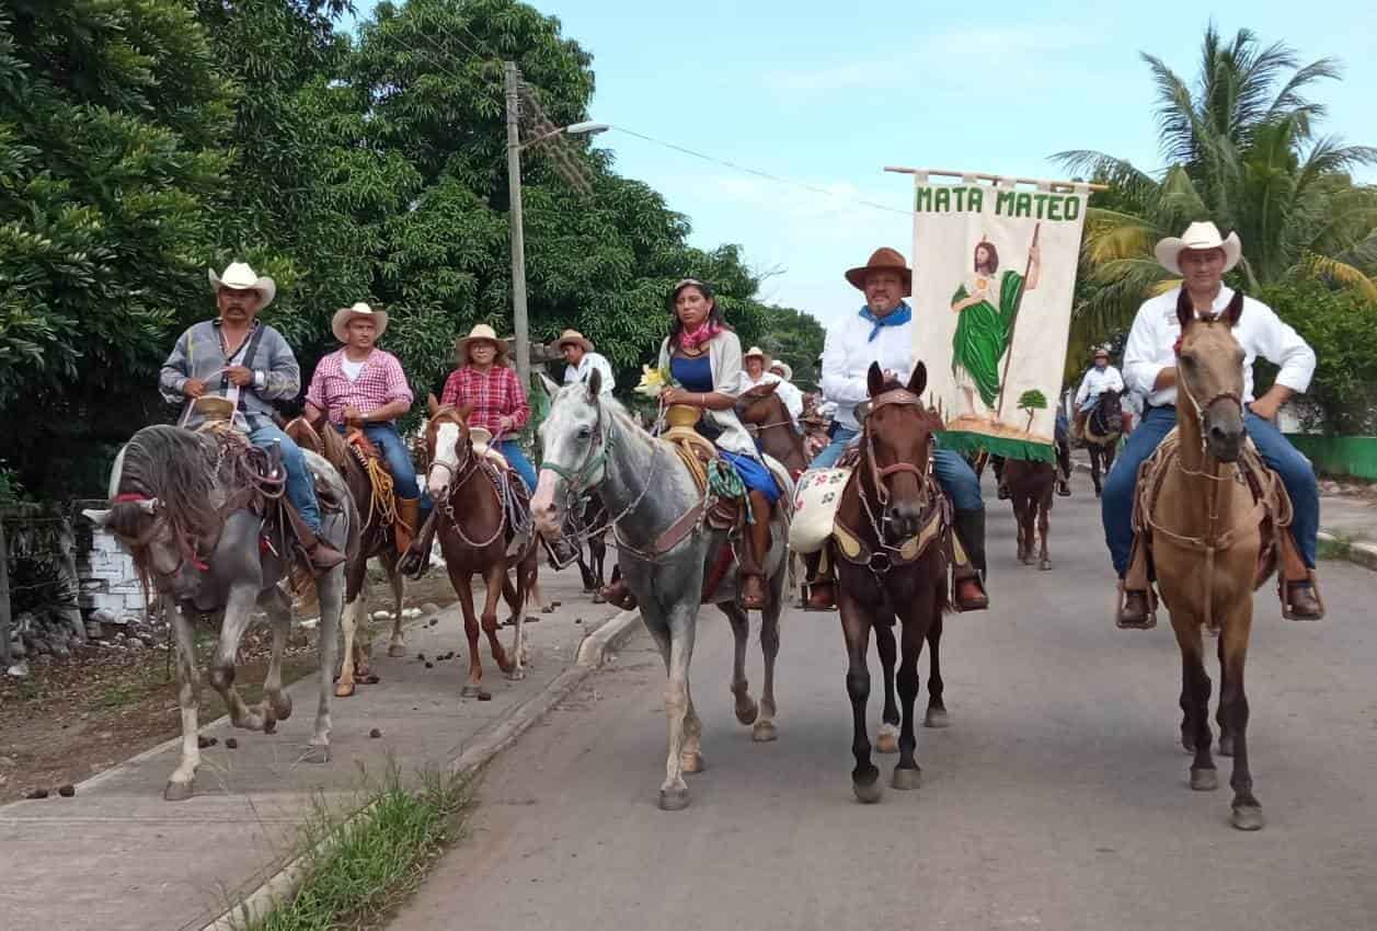
<svg viewBox="0 0 1377 931"><path fill-rule="evenodd" d="M625 408L602 394L602 377L596 370L587 384L560 388L549 379L543 383L552 402L540 428L544 459L540 485L532 499L536 526L547 537L558 536L569 503L580 493L596 492L606 504L621 573L640 603L642 618L660 646L669 676L665 689L669 757L660 807L666 811L683 808L688 804L683 774L704 768L702 722L688 689L698 606L704 578L731 541L726 532L708 530L701 522L682 538L673 538L680 521L698 511L702 496L673 448L650 437ZM788 478L785 482L788 485ZM781 501L784 507L793 501L792 488L785 488ZM759 705L746 682L750 621L737 605L737 573L728 570L711 595L712 603L731 621L737 640L731 676L737 720L753 723L752 737L761 742L775 740L774 665L779 653L788 538L784 514L775 515L771 532L764 566L770 606L761 613L760 625L764 691Z"/></svg>

